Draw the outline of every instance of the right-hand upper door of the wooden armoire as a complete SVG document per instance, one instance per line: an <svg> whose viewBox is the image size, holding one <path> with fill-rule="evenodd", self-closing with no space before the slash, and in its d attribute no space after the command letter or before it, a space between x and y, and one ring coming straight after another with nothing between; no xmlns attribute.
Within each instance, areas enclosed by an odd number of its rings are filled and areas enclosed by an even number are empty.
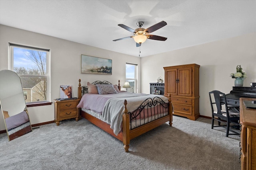
<svg viewBox="0 0 256 170"><path fill-rule="evenodd" d="M178 95L192 96L192 67L178 69Z"/></svg>

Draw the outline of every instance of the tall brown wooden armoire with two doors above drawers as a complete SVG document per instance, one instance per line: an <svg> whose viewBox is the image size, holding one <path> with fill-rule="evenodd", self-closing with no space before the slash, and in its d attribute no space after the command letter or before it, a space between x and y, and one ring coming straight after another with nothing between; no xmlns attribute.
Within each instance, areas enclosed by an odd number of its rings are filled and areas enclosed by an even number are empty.
<svg viewBox="0 0 256 170"><path fill-rule="evenodd" d="M200 117L199 67L198 64L164 67L164 96L171 94L174 115L191 120Z"/></svg>

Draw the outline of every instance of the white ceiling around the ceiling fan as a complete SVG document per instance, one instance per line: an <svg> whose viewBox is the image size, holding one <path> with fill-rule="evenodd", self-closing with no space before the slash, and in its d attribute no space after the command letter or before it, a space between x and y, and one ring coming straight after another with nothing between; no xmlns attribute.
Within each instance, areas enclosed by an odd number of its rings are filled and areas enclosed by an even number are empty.
<svg viewBox="0 0 256 170"><path fill-rule="evenodd" d="M137 21L167 25L147 39L140 57L256 32L256 0L0 0L0 24L138 57Z"/></svg>

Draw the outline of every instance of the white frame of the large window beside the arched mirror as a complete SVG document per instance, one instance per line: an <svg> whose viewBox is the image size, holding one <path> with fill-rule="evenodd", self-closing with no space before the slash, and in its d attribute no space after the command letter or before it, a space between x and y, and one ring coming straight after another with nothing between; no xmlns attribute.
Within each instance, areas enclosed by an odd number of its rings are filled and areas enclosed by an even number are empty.
<svg viewBox="0 0 256 170"><path fill-rule="evenodd" d="M18 74L20 77L44 77L46 78L46 100L45 101L37 101L37 102L26 102L27 107L33 107L33 106L45 106L45 105L51 105L51 92L50 92L50 49L42 48L42 47L34 47L30 45L21 45L16 43L10 43L9 42L9 54L8 54L8 70L14 70L14 47L17 48L23 48L23 49L29 49L34 51L42 51L46 52L46 75L23 75Z"/></svg>

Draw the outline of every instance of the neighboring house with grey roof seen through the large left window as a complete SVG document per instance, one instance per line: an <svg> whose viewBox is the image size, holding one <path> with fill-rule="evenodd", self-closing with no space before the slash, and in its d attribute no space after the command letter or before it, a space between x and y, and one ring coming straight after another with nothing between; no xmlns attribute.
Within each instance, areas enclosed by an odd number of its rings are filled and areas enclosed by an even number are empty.
<svg viewBox="0 0 256 170"><path fill-rule="evenodd" d="M38 78L21 77L23 94L26 102L44 101L44 80Z"/></svg>

